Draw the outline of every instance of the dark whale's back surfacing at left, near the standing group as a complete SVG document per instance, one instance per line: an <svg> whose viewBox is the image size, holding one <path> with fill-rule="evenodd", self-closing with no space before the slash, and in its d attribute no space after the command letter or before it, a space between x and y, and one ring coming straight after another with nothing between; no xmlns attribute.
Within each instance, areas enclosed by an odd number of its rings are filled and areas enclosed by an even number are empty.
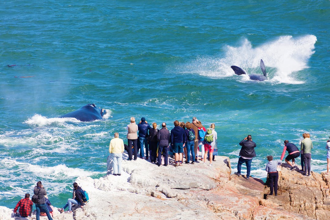
<svg viewBox="0 0 330 220"><path fill-rule="evenodd" d="M87 104L81 108L69 112L60 116L60 118L76 118L79 121L95 121L98 119L103 119L103 116L107 113L105 109L97 107L95 104Z"/></svg>

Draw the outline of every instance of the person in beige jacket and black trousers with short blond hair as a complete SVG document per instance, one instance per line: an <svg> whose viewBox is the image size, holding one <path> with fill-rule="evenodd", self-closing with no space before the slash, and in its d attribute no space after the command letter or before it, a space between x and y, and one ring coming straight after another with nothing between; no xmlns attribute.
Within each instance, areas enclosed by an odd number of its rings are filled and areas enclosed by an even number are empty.
<svg viewBox="0 0 330 220"><path fill-rule="evenodd" d="M128 159L133 159L132 146L134 147L134 160L137 159L138 155L138 125L135 123L135 118L131 117L131 123L127 125L127 142L128 142Z"/></svg>

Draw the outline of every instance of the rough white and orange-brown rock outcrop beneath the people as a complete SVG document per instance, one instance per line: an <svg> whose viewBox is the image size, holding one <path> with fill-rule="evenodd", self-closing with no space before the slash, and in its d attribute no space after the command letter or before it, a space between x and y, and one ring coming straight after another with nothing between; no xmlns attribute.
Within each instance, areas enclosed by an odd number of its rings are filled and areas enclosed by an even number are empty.
<svg viewBox="0 0 330 220"><path fill-rule="evenodd" d="M269 187L260 179L230 175L228 157L218 156L212 167L124 160L121 176L79 177L76 182L88 191L89 204L73 214L55 211L53 219L329 219L329 176L303 176L282 166L275 197L267 195ZM0 207L0 219L14 219L11 212Z"/></svg>

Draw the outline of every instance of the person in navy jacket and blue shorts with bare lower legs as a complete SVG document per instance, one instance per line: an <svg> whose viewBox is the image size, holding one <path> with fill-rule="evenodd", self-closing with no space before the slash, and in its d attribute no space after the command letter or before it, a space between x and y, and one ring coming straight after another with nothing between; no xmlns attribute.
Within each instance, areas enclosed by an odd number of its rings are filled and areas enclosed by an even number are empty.
<svg viewBox="0 0 330 220"><path fill-rule="evenodd" d="M179 126L179 121L174 121L174 128L171 130L171 145L174 153L175 167L182 166L183 146L186 135L182 127ZM179 164L180 162L180 164Z"/></svg>

